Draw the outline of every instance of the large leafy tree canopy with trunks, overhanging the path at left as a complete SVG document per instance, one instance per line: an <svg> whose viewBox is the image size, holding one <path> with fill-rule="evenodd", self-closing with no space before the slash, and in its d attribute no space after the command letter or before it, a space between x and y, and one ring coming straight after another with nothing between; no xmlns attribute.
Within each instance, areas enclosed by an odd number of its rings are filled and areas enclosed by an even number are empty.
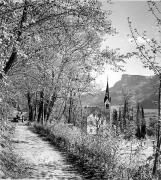
<svg viewBox="0 0 161 180"><path fill-rule="evenodd" d="M2 1L0 9L1 79L17 104L28 104L31 121L48 121L56 106L57 118L69 109L71 119L80 96L91 91L92 73L123 62L116 50L100 49L115 29L99 1Z"/></svg>

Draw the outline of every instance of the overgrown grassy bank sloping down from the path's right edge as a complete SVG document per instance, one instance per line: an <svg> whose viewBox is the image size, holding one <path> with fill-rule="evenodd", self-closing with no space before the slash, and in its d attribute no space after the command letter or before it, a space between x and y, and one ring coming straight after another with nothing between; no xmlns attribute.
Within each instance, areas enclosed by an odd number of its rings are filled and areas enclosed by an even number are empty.
<svg viewBox="0 0 161 180"><path fill-rule="evenodd" d="M128 152L126 148L122 150L125 157L125 163L122 163L119 147L122 139L113 137L109 131L106 137L91 136L76 127L71 128L63 123L52 126L35 124L34 129L38 134L46 136L54 146L66 151L68 156L77 161L77 165L82 170L86 173L88 171L87 179L151 179L152 161L149 163L144 159L144 162L139 164L141 151L137 147L136 151L133 150L131 153L130 166L128 165L130 150L129 148ZM138 141L136 145L137 143Z"/></svg>

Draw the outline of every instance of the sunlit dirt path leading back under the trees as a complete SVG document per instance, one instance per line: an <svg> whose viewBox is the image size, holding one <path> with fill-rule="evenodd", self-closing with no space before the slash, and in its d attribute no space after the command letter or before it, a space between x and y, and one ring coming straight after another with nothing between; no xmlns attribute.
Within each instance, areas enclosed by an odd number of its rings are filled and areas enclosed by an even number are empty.
<svg viewBox="0 0 161 180"><path fill-rule="evenodd" d="M82 180L67 164L65 157L47 141L31 132L27 126L17 124L15 135L15 152L33 167L34 179Z"/></svg>

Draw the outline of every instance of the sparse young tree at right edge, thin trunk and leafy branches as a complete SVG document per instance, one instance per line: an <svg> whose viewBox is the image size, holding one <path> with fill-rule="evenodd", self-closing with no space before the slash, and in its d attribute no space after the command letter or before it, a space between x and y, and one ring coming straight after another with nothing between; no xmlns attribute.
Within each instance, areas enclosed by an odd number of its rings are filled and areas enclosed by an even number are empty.
<svg viewBox="0 0 161 180"><path fill-rule="evenodd" d="M156 26L158 28L158 35L160 37L160 22L161 22L161 11L160 11L160 2L148 1L149 11L153 14L156 19ZM132 39L136 45L137 52L134 53L137 57L140 58L145 68L148 68L157 75L159 79L158 87L158 126L157 126L157 148L155 153L155 161L153 167L153 175L156 175L157 172L157 162L160 151L160 92L161 92L161 66L160 66L160 54L161 54L161 44L160 39L156 37L148 38L146 31L143 32L143 35L140 35L137 29L133 29L132 22L128 18L128 24L131 32ZM144 41L143 44L139 44L137 38L141 37Z"/></svg>

